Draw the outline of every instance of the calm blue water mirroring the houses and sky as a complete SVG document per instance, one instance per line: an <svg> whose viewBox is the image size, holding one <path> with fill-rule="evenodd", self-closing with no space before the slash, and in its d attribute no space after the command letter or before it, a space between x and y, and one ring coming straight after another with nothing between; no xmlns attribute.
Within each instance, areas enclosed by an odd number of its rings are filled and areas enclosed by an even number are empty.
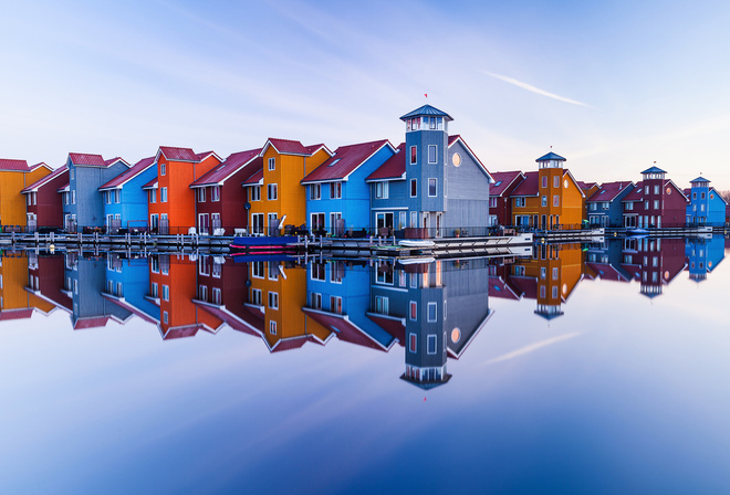
<svg viewBox="0 0 730 495"><path fill-rule="evenodd" d="M727 241L6 252L2 493L729 493Z"/></svg>

